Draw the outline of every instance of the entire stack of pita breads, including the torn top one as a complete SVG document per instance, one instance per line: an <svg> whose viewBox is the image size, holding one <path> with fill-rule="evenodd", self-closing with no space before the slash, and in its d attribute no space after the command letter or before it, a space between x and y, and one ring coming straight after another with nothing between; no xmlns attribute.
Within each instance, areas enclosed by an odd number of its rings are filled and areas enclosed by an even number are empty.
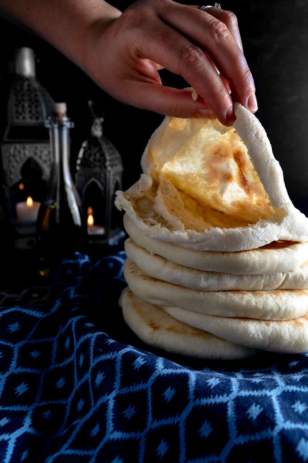
<svg viewBox="0 0 308 463"><path fill-rule="evenodd" d="M145 343L199 358L308 351L308 219L291 203L266 132L166 117L124 209L120 304Z"/></svg>

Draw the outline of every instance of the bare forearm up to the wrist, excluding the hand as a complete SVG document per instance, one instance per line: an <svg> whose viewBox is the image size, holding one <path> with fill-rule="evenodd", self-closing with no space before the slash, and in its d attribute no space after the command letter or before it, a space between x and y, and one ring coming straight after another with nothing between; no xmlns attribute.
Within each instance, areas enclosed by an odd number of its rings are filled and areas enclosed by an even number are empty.
<svg viewBox="0 0 308 463"><path fill-rule="evenodd" d="M0 0L0 6L85 69L92 30L121 12L103 0Z"/></svg>

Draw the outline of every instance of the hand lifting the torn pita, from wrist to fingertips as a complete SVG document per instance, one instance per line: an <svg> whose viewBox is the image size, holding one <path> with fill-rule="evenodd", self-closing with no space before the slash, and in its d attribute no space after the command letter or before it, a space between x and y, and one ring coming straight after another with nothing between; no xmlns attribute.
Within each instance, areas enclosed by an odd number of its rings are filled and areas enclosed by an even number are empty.
<svg viewBox="0 0 308 463"><path fill-rule="evenodd" d="M91 78L116 100L176 117L213 117L232 125L233 97L257 110L254 80L233 13L171 0L139 0L117 19L90 28L86 63ZM166 68L197 91L162 85ZM220 72L220 74L217 72Z"/></svg>

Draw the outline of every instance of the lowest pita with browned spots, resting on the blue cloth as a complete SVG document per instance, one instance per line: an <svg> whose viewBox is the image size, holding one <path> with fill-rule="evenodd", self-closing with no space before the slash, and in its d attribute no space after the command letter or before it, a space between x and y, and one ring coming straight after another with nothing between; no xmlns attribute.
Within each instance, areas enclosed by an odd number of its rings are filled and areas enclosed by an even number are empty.
<svg viewBox="0 0 308 463"><path fill-rule="evenodd" d="M241 359L256 353L254 349L188 326L160 307L138 299L131 291L124 290L120 305L127 325L153 347L204 359Z"/></svg>

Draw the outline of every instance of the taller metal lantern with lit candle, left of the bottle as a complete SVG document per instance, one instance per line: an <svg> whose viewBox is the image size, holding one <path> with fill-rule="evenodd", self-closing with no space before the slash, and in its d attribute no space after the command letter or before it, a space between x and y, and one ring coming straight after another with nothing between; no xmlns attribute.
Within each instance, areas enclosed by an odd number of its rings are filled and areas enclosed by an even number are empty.
<svg viewBox="0 0 308 463"><path fill-rule="evenodd" d="M50 174L49 135L44 121L51 114L53 100L36 79L33 50L16 50L14 67L1 156L15 246L26 249L34 245L37 210Z"/></svg>

